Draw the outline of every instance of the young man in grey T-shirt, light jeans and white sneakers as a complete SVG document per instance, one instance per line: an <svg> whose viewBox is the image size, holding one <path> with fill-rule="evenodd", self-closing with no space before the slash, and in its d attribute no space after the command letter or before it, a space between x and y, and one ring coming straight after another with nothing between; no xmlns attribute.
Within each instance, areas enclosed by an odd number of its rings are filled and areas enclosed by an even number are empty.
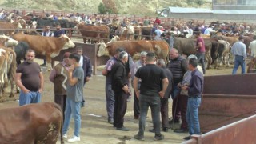
<svg viewBox="0 0 256 144"><path fill-rule="evenodd" d="M81 116L80 108L83 95L83 70L79 65L80 55L72 53L70 58L70 70L68 74L69 82L66 87L66 110L63 123L63 138L67 138L66 132L70 126L70 118L74 118L74 136L67 142L80 141Z"/></svg>

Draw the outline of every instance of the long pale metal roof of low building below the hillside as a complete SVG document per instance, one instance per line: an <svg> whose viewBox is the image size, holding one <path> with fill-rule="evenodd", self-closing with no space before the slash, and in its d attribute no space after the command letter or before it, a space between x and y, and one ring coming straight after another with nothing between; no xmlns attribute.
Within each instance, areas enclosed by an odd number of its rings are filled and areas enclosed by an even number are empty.
<svg viewBox="0 0 256 144"><path fill-rule="evenodd" d="M212 13L210 9L194 7L169 7L171 13Z"/></svg>

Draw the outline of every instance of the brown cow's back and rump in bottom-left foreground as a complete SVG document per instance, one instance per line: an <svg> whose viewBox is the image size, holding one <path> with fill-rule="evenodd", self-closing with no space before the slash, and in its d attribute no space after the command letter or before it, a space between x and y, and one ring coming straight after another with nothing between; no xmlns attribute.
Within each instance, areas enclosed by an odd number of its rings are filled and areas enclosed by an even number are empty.
<svg viewBox="0 0 256 144"><path fill-rule="evenodd" d="M62 133L62 109L54 102L2 109L0 117L1 143L54 144Z"/></svg>

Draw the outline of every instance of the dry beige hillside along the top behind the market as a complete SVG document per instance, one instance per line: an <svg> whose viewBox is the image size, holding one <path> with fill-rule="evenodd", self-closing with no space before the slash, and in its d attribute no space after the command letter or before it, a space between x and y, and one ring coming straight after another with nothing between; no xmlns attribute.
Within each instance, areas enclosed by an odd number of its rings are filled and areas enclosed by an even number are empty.
<svg viewBox="0 0 256 144"><path fill-rule="evenodd" d="M1 8L63 10L98 13L98 5L102 0L1 0ZM168 6L206 7L210 8L210 0L114 0L118 14L152 15L156 10ZM202 5L198 5L202 3Z"/></svg>

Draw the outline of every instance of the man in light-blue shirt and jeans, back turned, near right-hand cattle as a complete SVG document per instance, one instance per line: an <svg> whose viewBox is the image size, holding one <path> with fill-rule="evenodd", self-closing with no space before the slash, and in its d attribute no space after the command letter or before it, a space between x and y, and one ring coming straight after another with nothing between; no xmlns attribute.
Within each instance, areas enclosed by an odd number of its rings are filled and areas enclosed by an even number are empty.
<svg viewBox="0 0 256 144"><path fill-rule="evenodd" d="M243 43L243 36L239 36L239 41L235 42L231 48L231 54L234 55L234 69L232 74L236 74L238 67L241 66L242 74L246 72L246 45Z"/></svg>

